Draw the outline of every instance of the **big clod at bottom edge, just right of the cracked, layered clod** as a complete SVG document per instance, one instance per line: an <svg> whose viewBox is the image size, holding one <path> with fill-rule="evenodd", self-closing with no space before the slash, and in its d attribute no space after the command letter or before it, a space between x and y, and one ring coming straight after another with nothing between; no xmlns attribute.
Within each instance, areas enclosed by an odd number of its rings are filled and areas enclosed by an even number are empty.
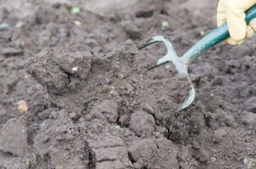
<svg viewBox="0 0 256 169"><path fill-rule="evenodd" d="M129 149L129 155L135 168L151 169L179 168L177 149L164 137L136 140Z"/></svg>

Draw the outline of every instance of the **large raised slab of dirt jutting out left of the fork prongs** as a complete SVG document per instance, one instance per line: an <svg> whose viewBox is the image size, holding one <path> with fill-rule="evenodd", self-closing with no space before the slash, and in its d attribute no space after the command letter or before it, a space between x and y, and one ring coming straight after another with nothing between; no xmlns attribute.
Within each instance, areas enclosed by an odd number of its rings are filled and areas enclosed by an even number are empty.
<svg viewBox="0 0 256 169"><path fill-rule="evenodd" d="M134 72L132 68L133 55L137 53L138 48L130 40L119 44L105 57L94 56L92 63L90 53L69 53L73 59L68 59L65 53L54 57L49 50L44 50L29 60L27 72L51 93L61 94L54 95L54 99L50 98L54 104L62 108L72 108L73 111L80 111L84 103L91 100L102 100L105 92L113 90L115 85L102 86L105 84L104 79L108 78L117 83L118 79L115 77L118 75L125 78ZM79 76L86 79L81 80ZM119 87L117 84L116 86ZM102 93L102 89L104 93Z"/></svg>

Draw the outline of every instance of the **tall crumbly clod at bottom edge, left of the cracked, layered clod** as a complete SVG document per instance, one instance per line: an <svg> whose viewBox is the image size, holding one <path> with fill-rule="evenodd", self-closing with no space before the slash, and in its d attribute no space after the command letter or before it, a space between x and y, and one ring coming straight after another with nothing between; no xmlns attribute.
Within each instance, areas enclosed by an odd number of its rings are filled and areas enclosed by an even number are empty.
<svg viewBox="0 0 256 169"><path fill-rule="evenodd" d="M40 158L47 161L42 167L88 168L87 145L81 139L78 128L72 125L68 112L53 111L50 118L46 122L45 132L38 133L34 139L34 147Z"/></svg>

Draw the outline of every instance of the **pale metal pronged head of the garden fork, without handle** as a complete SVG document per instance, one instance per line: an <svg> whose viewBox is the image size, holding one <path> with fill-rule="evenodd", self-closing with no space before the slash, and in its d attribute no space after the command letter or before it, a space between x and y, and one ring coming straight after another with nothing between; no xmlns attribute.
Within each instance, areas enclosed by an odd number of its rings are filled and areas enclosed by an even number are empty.
<svg viewBox="0 0 256 169"><path fill-rule="evenodd" d="M155 36L145 41L141 46L139 46L139 49L144 48L156 42L163 42L167 48L167 53L165 54L164 57L157 60L157 63L153 67L150 67L147 70L149 71L161 65L164 65L166 63L172 62L175 68L177 69L178 73L185 75L188 78L189 82L191 83L188 76L188 72L187 72L189 62L185 62L182 58L179 58L177 56L172 43L170 43L170 41L167 38L163 36ZM194 100L195 100L195 89L191 83L191 89L189 90L188 98L178 107L177 111L181 111L185 109L186 107L191 105Z"/></svg>

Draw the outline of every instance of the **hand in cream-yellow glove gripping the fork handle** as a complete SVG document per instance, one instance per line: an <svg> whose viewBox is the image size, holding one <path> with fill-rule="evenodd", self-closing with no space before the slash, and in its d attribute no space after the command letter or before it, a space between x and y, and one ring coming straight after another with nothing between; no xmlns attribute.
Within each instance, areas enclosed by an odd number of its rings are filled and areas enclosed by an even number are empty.
<svg viewBox="0 0 256 169"><path fill-rule="evenodd" d="M230 45L240 45L245 38L250 38L256 32L256 18L249 25L245 22L245 11L256 4L256 0L220 0L217 10L218 27L227 22Z"/></svg>

